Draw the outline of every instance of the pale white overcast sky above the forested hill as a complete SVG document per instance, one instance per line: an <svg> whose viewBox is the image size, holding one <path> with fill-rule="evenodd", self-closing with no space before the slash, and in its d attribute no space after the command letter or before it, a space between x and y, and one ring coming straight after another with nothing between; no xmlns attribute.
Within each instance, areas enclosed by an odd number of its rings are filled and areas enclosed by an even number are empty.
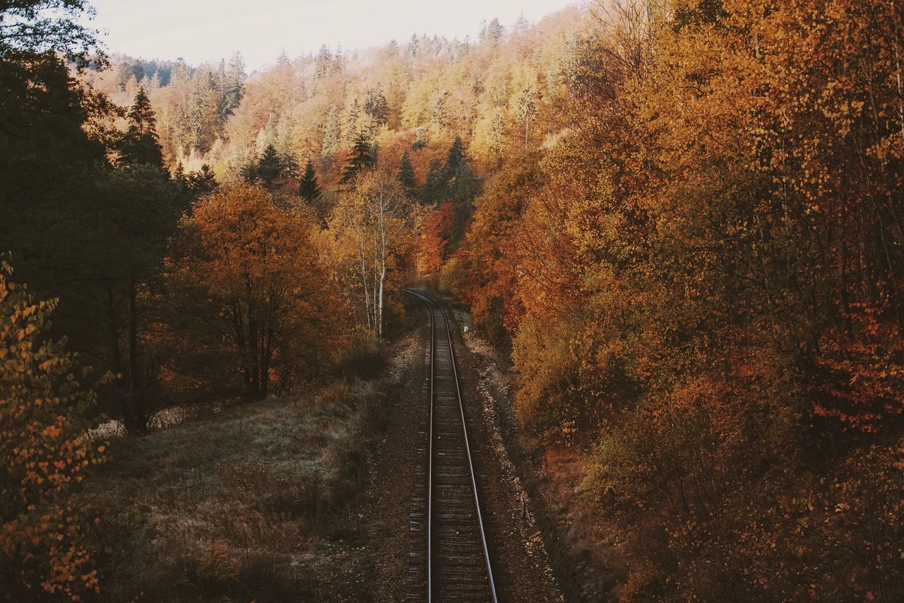
<svg viewBox="0 0 904 603"><path fill-rule="evenodd" d="M482 20L536 23L575 0L91 0L109 52L218 62L240 52L250 70L332 49L366 49L411 34L476 38Z"/></svg>

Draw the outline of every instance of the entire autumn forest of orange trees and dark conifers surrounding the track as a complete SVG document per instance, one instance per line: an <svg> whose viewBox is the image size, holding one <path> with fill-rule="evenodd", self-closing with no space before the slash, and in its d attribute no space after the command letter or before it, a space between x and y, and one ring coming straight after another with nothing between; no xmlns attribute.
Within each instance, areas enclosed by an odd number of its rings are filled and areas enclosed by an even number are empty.
<svg viewBox="0 0 904 603"><path fill-rule="evenodd" d="M904 598L899 2L595 0L256 71L89 10L0 6L0 598L136 597L84 495L117 450L346 391L411 283L579 467L611 600Z"/></svg>

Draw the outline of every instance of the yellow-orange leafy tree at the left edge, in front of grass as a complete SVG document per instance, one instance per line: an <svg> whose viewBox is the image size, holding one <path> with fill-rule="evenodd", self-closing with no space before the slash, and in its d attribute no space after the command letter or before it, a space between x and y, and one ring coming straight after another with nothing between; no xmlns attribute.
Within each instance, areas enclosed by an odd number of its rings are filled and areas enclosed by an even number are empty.
<svg viewBox="0 0 904 603"><path fill-rule="evenodd" d="M48 337L57 302L36 302L12 276L0 259L0 579L5 598L80 600L99 592L98 571L91 516L70 494L102 459L85 436L97 397L65 340Z"/></svg>

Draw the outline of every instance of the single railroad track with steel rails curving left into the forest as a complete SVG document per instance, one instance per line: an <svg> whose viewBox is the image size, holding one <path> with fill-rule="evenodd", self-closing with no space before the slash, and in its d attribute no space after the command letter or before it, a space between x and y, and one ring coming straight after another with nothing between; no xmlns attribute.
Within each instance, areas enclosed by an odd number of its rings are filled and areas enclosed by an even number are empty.
<svg viewBox="0 0 904 603"><path fill-rule="evenodd" d="M423 302L430 315L429 412L416 467L422 490L410 510L407 598L496 603L450 321L426 293L402 291Z"/></svg>

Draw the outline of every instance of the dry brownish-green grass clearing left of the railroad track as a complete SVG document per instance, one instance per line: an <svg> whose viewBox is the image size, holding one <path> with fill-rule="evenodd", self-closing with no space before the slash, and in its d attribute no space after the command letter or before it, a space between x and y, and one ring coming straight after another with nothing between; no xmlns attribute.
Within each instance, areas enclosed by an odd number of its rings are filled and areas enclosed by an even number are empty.
<svg viewBox="0 0 904 603"><path fill-rule="evenodd" d="M354 503L381 400L340 382L115 441L85 493L103 598L366 597Z"/></svg>

